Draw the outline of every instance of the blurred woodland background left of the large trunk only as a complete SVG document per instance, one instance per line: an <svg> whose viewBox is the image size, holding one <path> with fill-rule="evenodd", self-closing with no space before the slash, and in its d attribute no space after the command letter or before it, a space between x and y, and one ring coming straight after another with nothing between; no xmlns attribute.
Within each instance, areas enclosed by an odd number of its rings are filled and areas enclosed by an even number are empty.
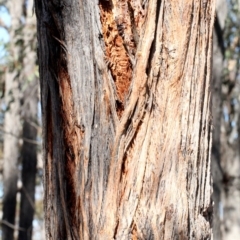
<svg viewBox="0 0 240 240"><path fill-rule="evenodd" d="M0 27L0 236L45 239L33 0L0 1Z"/></svg>

